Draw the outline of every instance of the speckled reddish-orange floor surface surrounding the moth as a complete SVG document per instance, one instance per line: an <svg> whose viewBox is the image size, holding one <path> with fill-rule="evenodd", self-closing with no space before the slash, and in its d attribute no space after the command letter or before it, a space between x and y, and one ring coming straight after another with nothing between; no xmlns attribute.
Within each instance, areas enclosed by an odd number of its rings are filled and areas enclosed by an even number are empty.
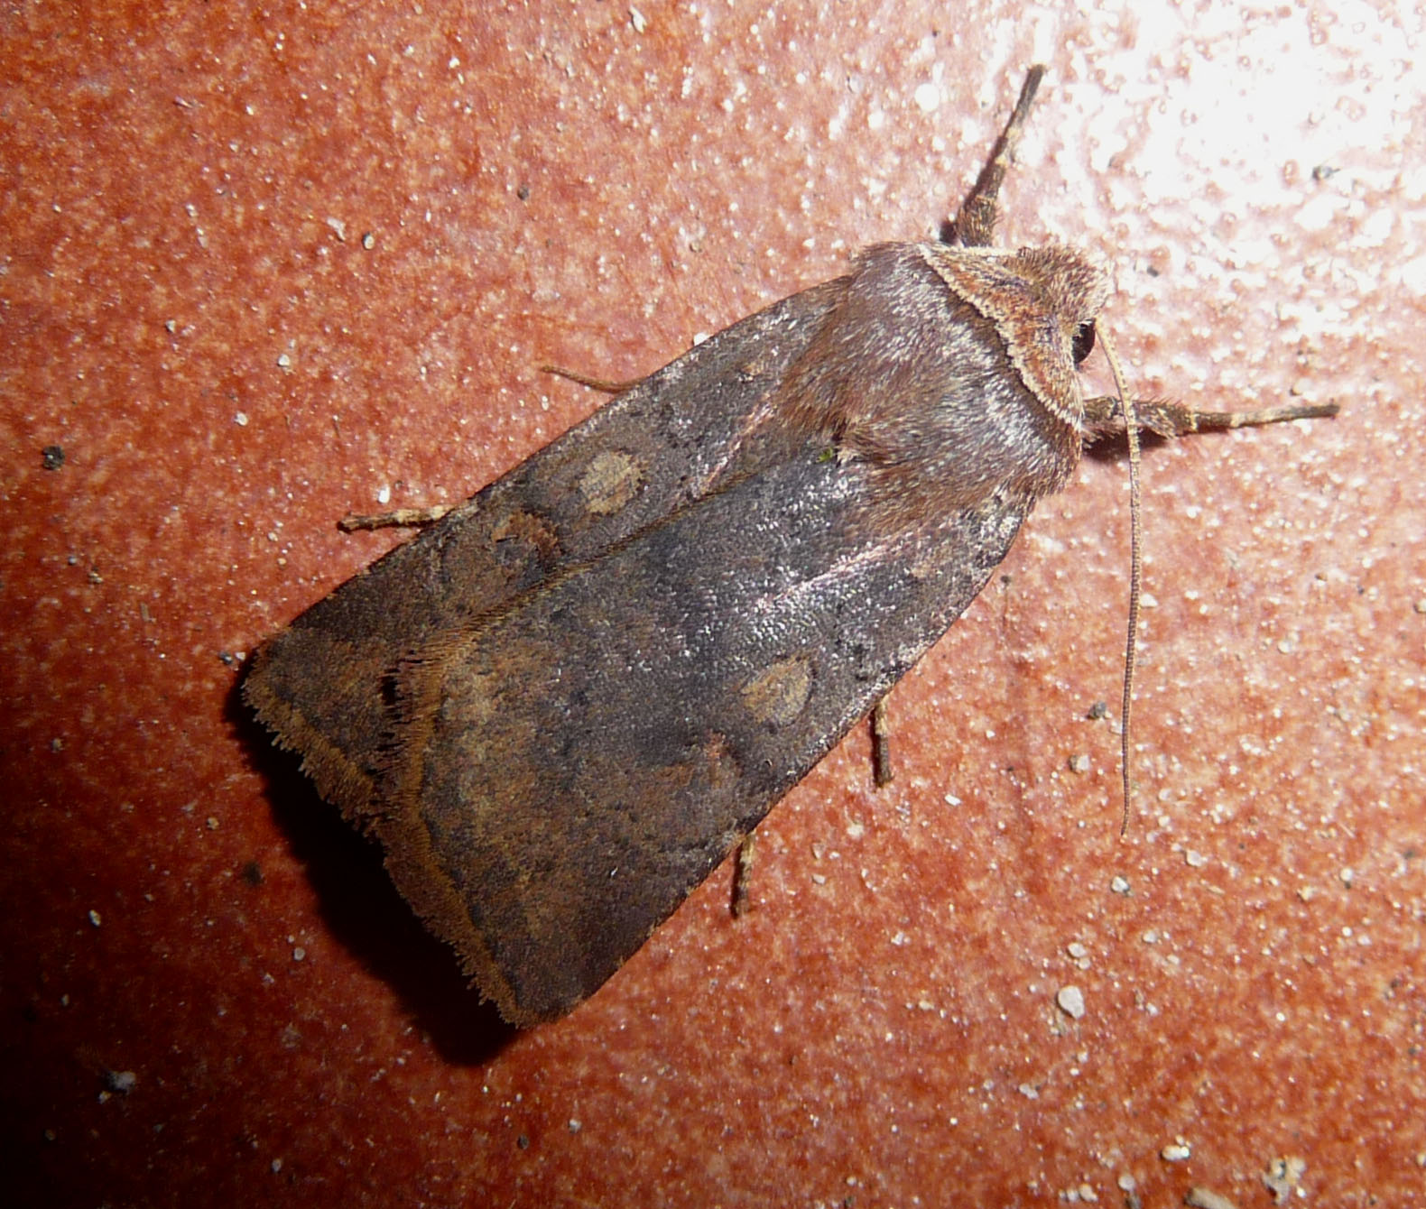
<svg viewBox="0 0 1426 1209"><path fill-rule="evenodd" d="M10 1203L1426 1203L1423 17L1134 14L9 9ZM511 1032L242 653L394 540L344 512L597 402L542 361L933 234L1037 57L1005 240L1114 267L1148 393L1343 405L1147 458L1127 838L1109 458L893 694L893 787L854 733L750 915L724 868Z"/></svg>

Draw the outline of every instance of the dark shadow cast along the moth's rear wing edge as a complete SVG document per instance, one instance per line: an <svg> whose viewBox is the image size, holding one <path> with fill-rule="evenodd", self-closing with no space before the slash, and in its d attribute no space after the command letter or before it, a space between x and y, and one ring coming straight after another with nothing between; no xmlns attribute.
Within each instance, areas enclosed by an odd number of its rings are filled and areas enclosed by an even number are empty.
<svg viewBox="0 0 1426 1209"><path fill-rule="evenodd" d="M381 845L317 796L301 761L271 741L242 701L241 677L225 714L265 783L272 817L317 890L322 922L401 997L441 1056L489 1062L516 1035L461 974L452 951L415 917L382 864Z"/></svg>

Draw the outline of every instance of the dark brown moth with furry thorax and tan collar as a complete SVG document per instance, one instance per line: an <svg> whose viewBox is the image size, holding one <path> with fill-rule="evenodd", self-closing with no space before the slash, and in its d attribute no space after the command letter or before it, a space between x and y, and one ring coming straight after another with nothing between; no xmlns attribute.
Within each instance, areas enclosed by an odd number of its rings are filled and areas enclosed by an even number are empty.
<svg viewBox="0 0 1426 1209"><path fill-rule="evenodd" d="M871 247L629 385L257 652L257 716L506 1019L597 989L1125 431L1075 375L1105 274L990 247L1042 73L953 238Z"/></svg>

